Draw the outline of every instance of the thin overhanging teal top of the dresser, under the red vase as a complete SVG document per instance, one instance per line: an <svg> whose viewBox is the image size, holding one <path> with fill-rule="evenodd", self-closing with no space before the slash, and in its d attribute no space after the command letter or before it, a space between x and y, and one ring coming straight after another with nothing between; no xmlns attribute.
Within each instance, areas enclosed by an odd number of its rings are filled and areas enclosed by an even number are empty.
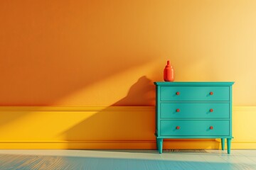
<svg viewBox="0 0 256 170"><path fill-rule="evenodd" d="M159 86L232 86L234 81L156 81L155 85Z"/></svg>

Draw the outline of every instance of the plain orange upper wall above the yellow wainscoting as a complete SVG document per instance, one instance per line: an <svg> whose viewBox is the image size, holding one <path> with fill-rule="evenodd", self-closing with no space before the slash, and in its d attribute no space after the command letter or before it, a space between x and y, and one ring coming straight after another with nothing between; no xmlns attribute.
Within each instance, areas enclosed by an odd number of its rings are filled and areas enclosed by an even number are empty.
<svg viewBox="0 0 256 170"><path fill-rule="evenodd" d="M256 104L256 1L0 1L1 106L152 106L176 81Z"/></svg>

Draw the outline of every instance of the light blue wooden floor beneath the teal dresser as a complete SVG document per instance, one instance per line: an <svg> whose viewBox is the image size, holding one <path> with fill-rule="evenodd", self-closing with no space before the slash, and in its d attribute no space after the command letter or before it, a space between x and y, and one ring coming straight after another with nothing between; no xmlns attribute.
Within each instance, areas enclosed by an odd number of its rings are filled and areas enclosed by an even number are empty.
<svg viewBox="0 0 256 170"><path fill-rule="evenodd" d="M256 169L256 150L0 150L0 169Z"/></svg>

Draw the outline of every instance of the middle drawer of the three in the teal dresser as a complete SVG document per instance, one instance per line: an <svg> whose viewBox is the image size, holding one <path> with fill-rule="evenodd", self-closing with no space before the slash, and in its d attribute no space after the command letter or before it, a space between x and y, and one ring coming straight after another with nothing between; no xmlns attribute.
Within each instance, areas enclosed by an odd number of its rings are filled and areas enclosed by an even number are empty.
<svg viewBox="0 0 256 170"><path fill-rule="evenodd" d="M229 103L161 103L160 118L229 118Z"/></svg>

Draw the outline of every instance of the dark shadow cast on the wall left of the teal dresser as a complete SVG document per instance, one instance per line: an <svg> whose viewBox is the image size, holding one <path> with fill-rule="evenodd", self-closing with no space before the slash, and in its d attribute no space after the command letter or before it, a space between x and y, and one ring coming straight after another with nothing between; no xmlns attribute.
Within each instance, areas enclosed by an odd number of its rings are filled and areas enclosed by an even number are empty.
<svg viewBox="0 0 256 170"><path fill-rule="evenodd" d="M124 103L134 106L140 105L140 102L154 105L154 101L154 84L144 76L131 86L126 97L112 106L123 106ZM60 135L66 137L67 141L154 140L154 116L154 111L139 111L125 106L118 110L110 106L96 111L90 118Z"/></svg>

